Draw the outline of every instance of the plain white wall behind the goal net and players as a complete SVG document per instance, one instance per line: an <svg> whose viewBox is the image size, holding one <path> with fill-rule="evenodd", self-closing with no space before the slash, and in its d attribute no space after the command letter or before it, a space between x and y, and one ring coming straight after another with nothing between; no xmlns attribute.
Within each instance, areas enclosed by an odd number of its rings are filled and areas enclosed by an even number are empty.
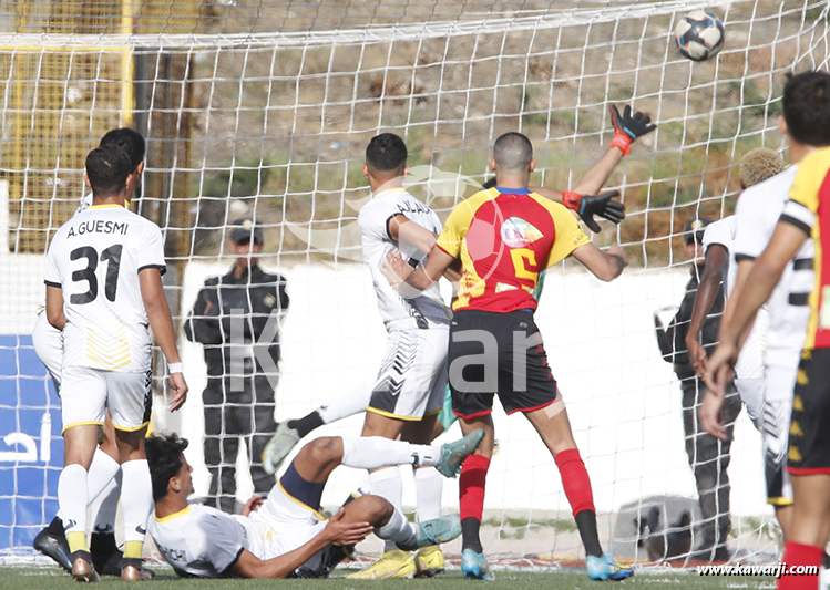
<svg viewBox="0 0 830 590"><path fill-rule="evenodd" d="M204 279L224 273L230 263L224 259L188 265L183 314ZM31 331L43 298L42 270L43 257L0 256L0 333ZM283 420L369 387L386 332L365 266L297 265L278 271L288 279L291 298L283 330L284 375L277 391L277 420ZM628 269L609 284L561 267L546 278L536 322L567 403L600 511L657 494L695 496L684 449L679 384L659 355L652 318L654 310L679 303L687 280L687 267L673 271ZM182 339L181 346L191 395L177 415L164 412L162 400L156 398L156 420L158 428L177 429L192 441L187 455L201 494L207 489L199 444L205 368L201 345ZM508 420L500 408L494 416L500 451L488 478L486 508L568 511L555 464L529 423L520 415ZM359 435L361 424L362 417L357 416L316 434ZM458 427L453 427L450 435L457 434ZM732 513L767 514L760 441L744 415L736 428L729 474ZM336 472L324 504L340 503L362 477L352 469ZM406 489L404 505L413 506L411 486ZM239 498L250 490L249 482L240 482ZM450 480L444 503L455 505L457 498L457 482Z"/></svg>

